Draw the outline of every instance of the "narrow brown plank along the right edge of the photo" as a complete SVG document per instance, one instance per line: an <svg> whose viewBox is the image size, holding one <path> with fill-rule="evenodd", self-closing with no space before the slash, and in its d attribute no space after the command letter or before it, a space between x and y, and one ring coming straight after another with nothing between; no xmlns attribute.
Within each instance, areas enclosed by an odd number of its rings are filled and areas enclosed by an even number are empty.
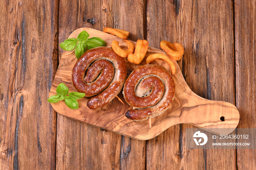
<svg viewBox="0 0 256 170"><path fill-rule="evenodd" d="M234 18L238 128L256 128L256 1L235 0ZM255 149L237 150L237 169L255 169L255 160Z"/></svg>

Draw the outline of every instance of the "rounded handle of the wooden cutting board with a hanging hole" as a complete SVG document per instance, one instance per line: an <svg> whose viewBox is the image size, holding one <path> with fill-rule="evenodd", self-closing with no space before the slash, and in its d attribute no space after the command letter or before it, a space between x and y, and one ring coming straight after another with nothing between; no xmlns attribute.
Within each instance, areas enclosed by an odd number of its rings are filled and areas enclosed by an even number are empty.
<svg viewBox="0 0 256 170"><path fill-rule="evenodd" d="M184 103L185 102L185 103ZM229 134L236 129L240 114L231 103L204 99L195 93L184 96L184 123L193 124L215 134Z"/></svg>

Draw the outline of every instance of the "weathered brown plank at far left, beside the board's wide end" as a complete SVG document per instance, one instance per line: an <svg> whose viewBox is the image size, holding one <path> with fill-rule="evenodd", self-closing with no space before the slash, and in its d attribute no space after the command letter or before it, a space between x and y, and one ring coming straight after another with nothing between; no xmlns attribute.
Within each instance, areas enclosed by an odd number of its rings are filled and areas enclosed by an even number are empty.
<svg viewBox="0 0 256 170"><path fill-rule="evenodd" d="M55 169L57 1L0 2L0 166Z"/></svg>

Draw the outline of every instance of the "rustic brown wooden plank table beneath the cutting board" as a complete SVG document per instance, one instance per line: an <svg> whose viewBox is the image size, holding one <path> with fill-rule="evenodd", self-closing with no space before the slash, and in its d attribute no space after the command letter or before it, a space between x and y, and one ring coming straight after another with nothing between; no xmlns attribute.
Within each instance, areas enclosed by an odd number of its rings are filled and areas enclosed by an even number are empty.
<svg viewBox="0 0 256 170"><path fill-rule="evenodd" d="M235 104L238 128L255 128L255 0L2 0L0 7L0 169L255 169L255 149L185 149L192 125L139 141L61 116L46 101L59 44L77 28L113 27L155 48L181 43L189 87Z"/></svg>

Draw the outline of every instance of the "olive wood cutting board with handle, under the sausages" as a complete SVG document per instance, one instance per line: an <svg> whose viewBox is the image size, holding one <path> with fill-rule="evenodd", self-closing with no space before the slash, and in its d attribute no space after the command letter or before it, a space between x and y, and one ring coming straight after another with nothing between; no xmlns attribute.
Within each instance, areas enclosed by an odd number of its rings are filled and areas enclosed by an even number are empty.
<svg viewBox="0 0 256 170"><path fill-rule="evenodd" d="M87 31L90 37L101 37L105 40L107 44L106 47L110 47L111 42L117 40L120 42L121 47L127 49L123 39L91 28L79 28L71 33L69 38L76 38L83 30ZM136 43L133 42L133 44L135 45ZM165 54L162 50L148 47L146 56L154 53ZM128 75L135 68L145 64L145 60L146 57L140 65L137 65L129 63L125 59ZM76 91L71 82L71 72L76 61L74 50L64 50L49 96L56 95L56 88L60 83L64 83L69 88L69 92ZM177 69L176 73L173 75L176 86L175 98L172 107L160 116L151 119L151 128L149 128L149 120L136 122L127 119L125 112L132 107L127 103L122 104L117 98L106 106L95 110L90 110L86 106L89 98L79 99L79 108L77 110L68 108L64 100L58 103L51 103L52 107L61 115L140 140L154 138L167 128L178 123L193 124L196 127L203 128L215 134L231 133L237 127L240 119L237 108L231 103L207 100L196 95L185 82L177 62L174 60L173 62ZM161 65L170 71L169 65L161 59L157 59L150 64ZM120 92L118 96L125 102L122 92ZM226 129L219 130L217 128Z"/></svg>

